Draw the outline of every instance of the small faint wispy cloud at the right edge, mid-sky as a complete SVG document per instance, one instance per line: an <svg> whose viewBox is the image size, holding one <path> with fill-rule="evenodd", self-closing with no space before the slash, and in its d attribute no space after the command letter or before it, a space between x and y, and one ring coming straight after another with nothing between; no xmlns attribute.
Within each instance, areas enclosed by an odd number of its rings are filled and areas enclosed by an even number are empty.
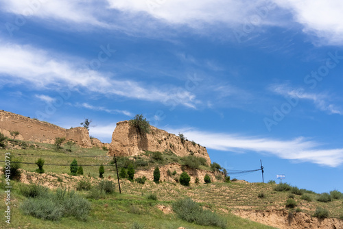
<svg viewBox="0 0 343 229"><path fill-rule="evenodd" d="M341 108L329 102L331 98L327 94L307 93L304 88L292 88L287 84L273 84L270 86L270 90L279 95L283 95L284 97L311 101L314 103L316 108L322 111L327 111L329 114L343 115L343 110Z"/></svg>

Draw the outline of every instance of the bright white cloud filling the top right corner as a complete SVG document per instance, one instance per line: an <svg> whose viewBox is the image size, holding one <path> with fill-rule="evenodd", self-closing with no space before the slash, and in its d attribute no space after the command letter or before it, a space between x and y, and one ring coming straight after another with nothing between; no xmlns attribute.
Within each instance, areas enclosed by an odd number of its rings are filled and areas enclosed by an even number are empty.
<svg viewBox="0 0 343 229"><path fill-rule="evenodd" d="M324 42L342 45L343 1L341 0L274 0L290 10L304 32L324 38Z"/></svg>

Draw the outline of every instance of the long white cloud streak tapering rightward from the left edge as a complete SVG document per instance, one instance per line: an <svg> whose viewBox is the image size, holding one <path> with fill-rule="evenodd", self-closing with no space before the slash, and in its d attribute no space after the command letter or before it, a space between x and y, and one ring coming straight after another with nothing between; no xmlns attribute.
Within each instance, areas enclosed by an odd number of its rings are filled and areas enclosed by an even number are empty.
<svg viewBox="0 0 343 229"><path fill-rule="evenodd" d="M121 80L112 74L82 67L83 60L43 51L27 45L0 45L0 75L12 84L31 83L36 88L60 88L68 85L71 91L84 88L92 93L117 95L130 99L154 101L166 106L196 108L200 101L193 93L170 85L158 88L143 82ZM25 84L27 85L27 84Z"/></svg>

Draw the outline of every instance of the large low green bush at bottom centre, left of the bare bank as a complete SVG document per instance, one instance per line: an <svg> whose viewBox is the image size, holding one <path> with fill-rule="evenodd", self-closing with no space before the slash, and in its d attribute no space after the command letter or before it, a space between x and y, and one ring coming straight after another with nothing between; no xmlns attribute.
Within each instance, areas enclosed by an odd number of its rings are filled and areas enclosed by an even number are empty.
<svg viewBox="0 0 343 229"><path fill-rule="evenodd" d="M194 222L198 225L226 228L226 221L224 219L211 212L211 210L202 209L197 202L193 202L190 198L174 202L172 208L178 217L190 223Z"/></svg>

